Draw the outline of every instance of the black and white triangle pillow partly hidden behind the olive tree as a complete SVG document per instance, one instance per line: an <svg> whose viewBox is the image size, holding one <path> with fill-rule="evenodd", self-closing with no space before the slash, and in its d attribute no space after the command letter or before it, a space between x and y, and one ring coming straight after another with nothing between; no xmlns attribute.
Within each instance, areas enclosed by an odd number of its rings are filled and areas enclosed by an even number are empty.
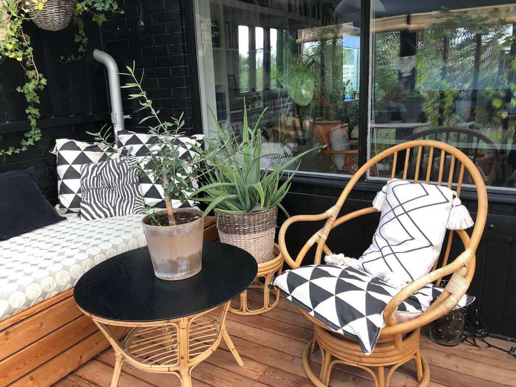
<svg viewBox="0 0 516 387"><path fill-rule="evenodd" d="M149 163L149 154L157 150L157 138L144 133L135 133L126 130L120 130L118 135L118 147L122 150L122 154L136 157L136 161L146 170L146 173L140 174L140 192L143 195L145 205L155 208L165 208L165 195L163 186L159 182L156 175L152 173L150 168L146 168ZM192 145L199 146L200 136L180 136L176 139L175 144L178 146L181 157L193 157L196 151ZM195 187L194 187L195 188ZM184 192L188 196L191 192ZM184 205L192 205L193 201ZM184 206L179 198L172 199L173 207Z"/></svg>

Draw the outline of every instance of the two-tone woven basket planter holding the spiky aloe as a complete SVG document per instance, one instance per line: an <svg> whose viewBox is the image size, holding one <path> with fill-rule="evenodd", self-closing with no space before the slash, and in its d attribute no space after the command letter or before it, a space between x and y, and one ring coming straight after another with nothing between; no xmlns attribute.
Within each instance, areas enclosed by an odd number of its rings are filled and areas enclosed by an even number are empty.
<svg viewBox="0 0 516 387"><path fill-rule="evenodd" d="M222 243L246 250L257 263L273 259L278 207L245 215L215 214Z"/></svg>

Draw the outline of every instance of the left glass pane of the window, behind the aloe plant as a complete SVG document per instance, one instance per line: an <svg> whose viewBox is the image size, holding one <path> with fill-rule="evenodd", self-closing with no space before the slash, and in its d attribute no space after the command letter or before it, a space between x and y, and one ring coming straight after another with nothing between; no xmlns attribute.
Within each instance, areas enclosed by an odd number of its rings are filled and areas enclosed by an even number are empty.
<svg viewBox="0 0 516 387"><path fill-rule="evenodd" d="M201 96L218 121L241 134L244 100L253 124L267 108L263 152L276 155L262 167L322 147L303 158L300 171L356 172L360 2L206 3L196 3ZM204 107L203 119L213 136Z"/></svg>

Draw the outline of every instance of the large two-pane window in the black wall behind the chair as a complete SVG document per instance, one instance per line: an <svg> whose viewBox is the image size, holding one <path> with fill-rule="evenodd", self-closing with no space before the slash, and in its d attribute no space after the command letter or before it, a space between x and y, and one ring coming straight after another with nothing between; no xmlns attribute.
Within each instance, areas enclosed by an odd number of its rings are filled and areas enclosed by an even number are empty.
<svg viewBox="0 0 516 387"><path fill-rule="evenodd" d="M196 0L196 12L204 130L216 134L207 105L236 134L244 101L251 123L267 107L263 149L279 155L264 168L322 146L300 171L350 175L359 152L426 138L469 155L492 189L516 188L516 4ZM385 160L367 178L390 171Z"/></svg>

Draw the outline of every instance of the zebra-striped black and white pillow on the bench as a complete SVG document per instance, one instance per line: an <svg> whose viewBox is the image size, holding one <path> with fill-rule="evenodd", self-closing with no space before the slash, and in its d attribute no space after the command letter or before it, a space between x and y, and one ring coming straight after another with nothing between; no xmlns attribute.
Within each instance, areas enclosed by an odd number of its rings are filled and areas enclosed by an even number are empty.
<svg viewBox="0 0 516 387"><path fill-rule="evenodd" d="M130 158L123 158L83 166L81 218L93 220L144 212L134 163Z"/></svg>

